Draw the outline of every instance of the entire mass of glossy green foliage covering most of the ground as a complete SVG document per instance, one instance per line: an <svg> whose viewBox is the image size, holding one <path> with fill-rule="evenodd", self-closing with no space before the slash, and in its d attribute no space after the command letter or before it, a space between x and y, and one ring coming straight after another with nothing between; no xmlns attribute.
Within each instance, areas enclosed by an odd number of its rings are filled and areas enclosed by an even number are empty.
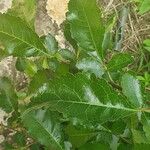
<svg viewBox="0 0 150 150"><path fill-rule="evenodd" d="M140 14L149 10L148 1L138 3ZM33 0L14 0L0 14L3 57L16 57L16 69L29 79L21 90L0 79L0 108L11 113L8 125L1 125L2 147L149 149L149 64L141 76L134 53L115 51L114 23L105 24L96 0L68 4L64 35L74 51L59 47L50 33L35 33L35 8ZM149 56L149 39L142 47Z"/></svg>

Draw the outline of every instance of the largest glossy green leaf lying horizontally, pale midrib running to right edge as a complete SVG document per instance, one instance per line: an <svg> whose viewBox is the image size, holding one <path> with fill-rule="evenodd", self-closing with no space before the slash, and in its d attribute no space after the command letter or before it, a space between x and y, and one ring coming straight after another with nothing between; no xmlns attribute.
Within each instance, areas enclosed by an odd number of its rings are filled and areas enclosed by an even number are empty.
<svg viewBox="0 0 150 150"><path fill-rule="evenodd" d="M115 121L137 112L105 80L90 80L84 74L50 81L49 90L33 98L32 103L31 110L46 105L83 123Z"/></svg>

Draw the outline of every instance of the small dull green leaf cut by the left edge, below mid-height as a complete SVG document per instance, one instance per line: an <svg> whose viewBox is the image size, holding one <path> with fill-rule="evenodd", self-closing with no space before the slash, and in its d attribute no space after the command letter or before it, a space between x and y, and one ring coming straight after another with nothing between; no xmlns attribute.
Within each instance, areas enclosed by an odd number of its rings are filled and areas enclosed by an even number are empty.
<svg viewBox="0 0 150 150"><path fill-rule="evenodd" d="M14 87L5 77L0 79L0 108L6 112L11 112L18 108Z"/></svg>

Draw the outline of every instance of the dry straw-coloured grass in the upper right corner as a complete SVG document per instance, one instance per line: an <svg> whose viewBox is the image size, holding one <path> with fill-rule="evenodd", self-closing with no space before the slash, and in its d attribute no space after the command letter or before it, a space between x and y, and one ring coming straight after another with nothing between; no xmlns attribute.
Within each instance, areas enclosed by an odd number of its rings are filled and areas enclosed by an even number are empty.
<svg viewBox="0 0 150 150"><path fill-rule="evenodd" d="M116 15L119 21L119 11L123 6L129 8L129 14L125 25L124 40L122 42L122 50L138 53L142 42L146 38L150 38L150 14L143 16L138 15L135 10L136 4L129 0L100 0L104 9L105 18Z"/></svg>

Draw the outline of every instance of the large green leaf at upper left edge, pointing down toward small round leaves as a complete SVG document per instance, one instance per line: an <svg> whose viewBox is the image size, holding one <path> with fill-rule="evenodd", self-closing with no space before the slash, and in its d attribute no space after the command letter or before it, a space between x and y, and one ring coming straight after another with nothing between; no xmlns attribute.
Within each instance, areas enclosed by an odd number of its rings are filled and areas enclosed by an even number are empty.
<svg viewBox="0 0 150 150"><path fill-rule="evenodd" d="M46 55L40 38L25 22L6 14L0 14L0 20L0 41L5 45L9 55Z"/></svg>

